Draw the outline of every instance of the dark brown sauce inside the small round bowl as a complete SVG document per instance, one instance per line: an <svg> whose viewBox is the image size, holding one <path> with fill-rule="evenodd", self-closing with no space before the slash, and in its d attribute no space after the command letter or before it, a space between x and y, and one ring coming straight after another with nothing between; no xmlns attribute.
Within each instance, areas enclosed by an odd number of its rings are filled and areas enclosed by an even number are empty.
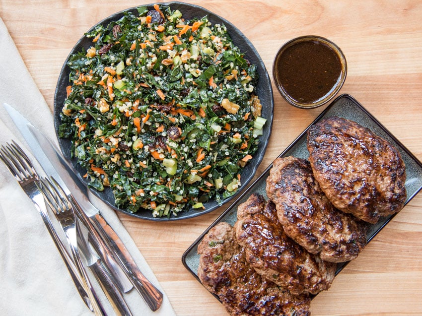
<svg viewBox="0 0 422 316"><path fill-rule="evenodd" d="M282 88L291 98L300 103L313 103L334 88L342 65L328 45L305 41L286 48L275 70Z"/></svg>

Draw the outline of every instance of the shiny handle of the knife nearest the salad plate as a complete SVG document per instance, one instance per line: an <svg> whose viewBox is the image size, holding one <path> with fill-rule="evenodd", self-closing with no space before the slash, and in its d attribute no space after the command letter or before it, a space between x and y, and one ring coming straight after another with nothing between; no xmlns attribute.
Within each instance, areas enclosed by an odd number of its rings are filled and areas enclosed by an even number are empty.
<svg viewBox="0 0 422 316"><path fill-rule="evenodd" d="M129 280L131 280L134 287L141 294L141 297L148 307L152 311L158 310L163 301L163 294L143 275L113 228L99 213L89 217L89 219L97 232L107 238L111 250L119 259L120 266L123 268L123 271Z"/></svg>

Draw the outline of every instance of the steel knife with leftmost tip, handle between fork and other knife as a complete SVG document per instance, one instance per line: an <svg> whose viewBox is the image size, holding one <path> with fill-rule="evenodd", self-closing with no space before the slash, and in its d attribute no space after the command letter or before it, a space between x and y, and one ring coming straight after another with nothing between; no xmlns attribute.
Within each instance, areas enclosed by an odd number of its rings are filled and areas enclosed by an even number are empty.
<svg viewBox="0 0 422 316"><path fill-rule="evenodd" d="M22 114L20 114L17 110L15 110L12 106L8 105L7 103L3 103L3 106L6 109L9 116L12 118L14 124L17 126L17 128L19 129L19 131L25 138L26 142L31 148L32 153L34 154L37 161L40 163L41 167L44 169L45 173L49 176L53 176L57 180L59 185L66 190L66 194L69 195L70 193L69 187L71 187L71 185L73 184L73 181L67 181L69 182L68 184L64 183L63 181L64 178L58 174L58 172L56 171L52 163L49 161L49 158L48 158L49 154L45 153L42 150L42 147L38 145L37 139L29 130L28 128L28 124L30 125L29 121L25 117L23 117ZM73 191L74 192L72 193L75 193L73 194L73 197L78 199L78 202L83 204L84 200L87 200L86 196L79 193L79 191L76 188ZM81 196L78 196L78 195L81 195ZM89 201L88 203L90 204ZM79 215L82 215L80 216L82 223L88 229L91 230L93 228L93 226L91 225L91 221L87 219L87 216L84 216L84 213L79 214ZM130 291L133 288L132 283L129 281L128 277L121 269L118 260L116 260L115 256L111 255L110 251L105 245L105 242L104 242L105 238L101 238L101 236L98 233L98 230L93 230L93 234L94 234L94 237L97 239L97 243L95 243L96 251L101 254L101 258L103 259L104 264L112 272L116 285L124 293Z"/></svg>

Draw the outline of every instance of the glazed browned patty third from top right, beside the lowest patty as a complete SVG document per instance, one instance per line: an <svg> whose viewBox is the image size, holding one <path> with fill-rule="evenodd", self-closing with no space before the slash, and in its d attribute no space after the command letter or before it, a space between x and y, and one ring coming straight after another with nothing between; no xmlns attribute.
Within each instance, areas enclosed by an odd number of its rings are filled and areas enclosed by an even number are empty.
<svg viewBox="0 0 422 316"><path fill-rule="evenodd" d="M336 265L308 253L284 233L272 201L252 194L237 208L236 239L245 248L246 260L263 278L292 294L317 294L327 290Z"/></svg>

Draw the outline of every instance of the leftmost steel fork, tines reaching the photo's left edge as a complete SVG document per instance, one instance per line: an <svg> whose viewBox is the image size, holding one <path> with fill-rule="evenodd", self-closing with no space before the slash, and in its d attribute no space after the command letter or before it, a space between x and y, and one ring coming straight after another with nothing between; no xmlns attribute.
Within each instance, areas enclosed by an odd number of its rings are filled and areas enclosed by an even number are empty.
<svg viewBox="0 0 422 316"><path fill-rule="evenodd" d="M88 294L86 293L85 288L82 285L80 274L72 259L70 258L69 253L66 251L65 245L61 241L56 230L54 229L50 217L48 216L44 197L39 188L37 187L39 177L34 167L32 166L30 159L22 150L22 148L20 148L20 146L16 144L16 142L13 140L12 143L6 143L6 145L1 145L0 159L6 165L7 169L9 169L10 173L16 179L22 190L29 196L29 198L34 203L35 208L43 219L47 231L53 239L54 244L59 250L62 259L69 270L70 277L72 278L80 297L82 298L86 306L91 311L94 311Z"/></svg>

